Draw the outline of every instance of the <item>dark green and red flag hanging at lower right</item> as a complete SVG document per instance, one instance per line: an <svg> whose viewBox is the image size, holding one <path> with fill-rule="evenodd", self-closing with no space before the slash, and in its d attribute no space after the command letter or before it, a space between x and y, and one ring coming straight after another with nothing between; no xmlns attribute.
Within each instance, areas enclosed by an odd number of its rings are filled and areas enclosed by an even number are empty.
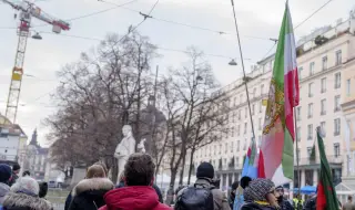
<svg viewBox="0 0 355 210"><path fill-rule="evenodd" d="M326 159L324 143L321 137L320 127L317 128L318 149L321 158L321 175L317 188L316 210L338 210L339 203L333 185L333 177L328 160Z"/></svg>

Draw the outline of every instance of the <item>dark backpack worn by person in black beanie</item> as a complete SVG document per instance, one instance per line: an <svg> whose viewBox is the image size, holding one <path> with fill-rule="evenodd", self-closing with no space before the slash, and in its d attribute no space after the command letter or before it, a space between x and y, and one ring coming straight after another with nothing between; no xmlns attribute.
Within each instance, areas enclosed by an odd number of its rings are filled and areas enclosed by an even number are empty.
<svg viewBox="0 0 355 210"><path fill-rule="evenodd" d="M197 188L196 185L183 190L175 203L175 210L214 210L211 188Z"/></svg>

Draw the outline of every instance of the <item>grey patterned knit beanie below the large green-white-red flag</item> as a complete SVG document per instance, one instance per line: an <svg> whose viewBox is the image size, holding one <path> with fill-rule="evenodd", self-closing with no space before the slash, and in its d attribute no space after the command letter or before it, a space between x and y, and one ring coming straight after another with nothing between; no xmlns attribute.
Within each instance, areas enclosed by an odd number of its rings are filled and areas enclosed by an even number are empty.
<svg viewBox="0 0 355 210"><path fill-rule="evenodd" d="M255 179L244 189L244 199L246 201L266 201L266 195L275 188L270 179Z"/></svg>

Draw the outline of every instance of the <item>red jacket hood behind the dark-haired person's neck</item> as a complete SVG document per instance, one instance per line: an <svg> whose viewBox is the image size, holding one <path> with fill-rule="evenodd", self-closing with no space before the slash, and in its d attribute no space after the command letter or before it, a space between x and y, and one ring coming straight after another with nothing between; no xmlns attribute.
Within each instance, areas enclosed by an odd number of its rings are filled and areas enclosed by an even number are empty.
<svg viewBox="0 0 355 210"><path fill-rule="evenodd" d="M151 210L159 206L155 190L149 186L118 188L104 196L108 209Z"/></svg>

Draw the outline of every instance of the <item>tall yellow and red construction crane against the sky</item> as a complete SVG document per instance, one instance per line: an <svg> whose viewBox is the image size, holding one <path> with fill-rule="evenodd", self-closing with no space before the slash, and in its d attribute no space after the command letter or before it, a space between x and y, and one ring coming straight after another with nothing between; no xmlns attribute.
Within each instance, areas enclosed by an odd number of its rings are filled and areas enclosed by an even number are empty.
<svg viewBox="0 0 355 210"><path fill-rule="evenodd" d="M11 74L11 83L7 103L6 117L11 120L13 124L16 123L16 117L18 113L18 105L21 92L21 83L23 76L23 62L24 62L24 53L27 46L27 40L31 35L31 19L32 17L53 25L52 31L54 33L60 33L61 30L68 31L70 30L70 24L63 20L55 19L45 12L43 12L39 7L34 6L34 3L29 1L22 1L20 3L14 3L9 0L0 0L3 3L10 4L14 10L20 11L20 24L17 30L17 34L19 35L18 48L14 59L14 66L12 69ZM14 14L17 18L17 14ZM39 33L36 33L33 39L41 39Z"/></svg>

